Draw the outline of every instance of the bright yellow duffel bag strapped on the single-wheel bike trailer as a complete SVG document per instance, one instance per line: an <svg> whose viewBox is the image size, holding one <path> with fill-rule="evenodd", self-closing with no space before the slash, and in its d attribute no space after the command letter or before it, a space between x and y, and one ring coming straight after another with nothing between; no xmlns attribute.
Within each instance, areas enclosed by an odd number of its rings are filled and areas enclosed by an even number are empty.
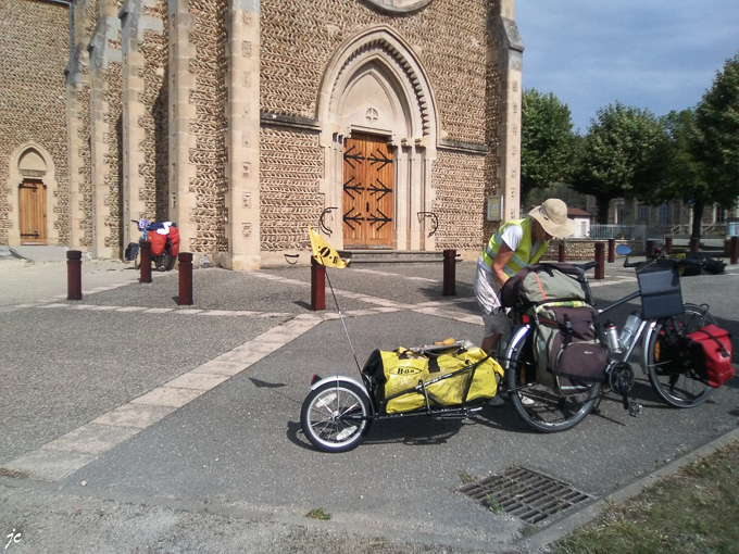
<svg viewBox="0 0 739 554"><path fill-rule="evenodd" d="M496 395L503 368L479 348L459 345L434 351L376 350L362 370L369 376L378 405L388 414L454 406ZM472 379L472 382L471 382ZM465 390L469 383L466 399Z"/></svg>

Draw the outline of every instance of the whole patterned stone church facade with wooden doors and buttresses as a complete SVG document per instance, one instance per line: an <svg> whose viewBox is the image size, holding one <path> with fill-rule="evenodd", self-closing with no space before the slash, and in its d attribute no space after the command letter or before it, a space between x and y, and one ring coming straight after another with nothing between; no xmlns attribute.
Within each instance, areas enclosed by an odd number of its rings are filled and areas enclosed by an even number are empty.
<svg viewBox="0 0 739 554"><path fill-rule="evenodd" d="M3 0L0 243L121 257L146 217L234 269L305 253L309 225L477 252L518 216L513 9Z"/></svg>

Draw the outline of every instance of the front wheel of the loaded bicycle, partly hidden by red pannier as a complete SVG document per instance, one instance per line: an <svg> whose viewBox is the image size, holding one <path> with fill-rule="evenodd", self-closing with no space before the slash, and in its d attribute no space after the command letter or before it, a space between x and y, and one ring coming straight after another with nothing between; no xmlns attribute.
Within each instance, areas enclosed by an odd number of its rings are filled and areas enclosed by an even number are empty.
<svg viewBox="0 0 739 554"><path fill-rule="evenodd" d="M694 304L682 307L681 315L657 319L644 341L644 364L652 388L667 404L693 407L709 399L713 387L699 379L696 368L680 363L679 344L675 344L675 340L716 320L704 307Z"/></svg>

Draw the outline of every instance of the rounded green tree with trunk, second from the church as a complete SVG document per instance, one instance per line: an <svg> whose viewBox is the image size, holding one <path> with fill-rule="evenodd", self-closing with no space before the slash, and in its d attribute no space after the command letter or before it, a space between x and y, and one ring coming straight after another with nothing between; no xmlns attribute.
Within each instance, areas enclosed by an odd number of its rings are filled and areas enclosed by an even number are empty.
<svg viewBox="0 0 739 554"><path fill-rule="evenodd" d="M598 111L579 142L572 186L596 197L598 222L608 223L611 200L623 197L655 202L667 154L667 135L654 114L616 102Z"/></svg>

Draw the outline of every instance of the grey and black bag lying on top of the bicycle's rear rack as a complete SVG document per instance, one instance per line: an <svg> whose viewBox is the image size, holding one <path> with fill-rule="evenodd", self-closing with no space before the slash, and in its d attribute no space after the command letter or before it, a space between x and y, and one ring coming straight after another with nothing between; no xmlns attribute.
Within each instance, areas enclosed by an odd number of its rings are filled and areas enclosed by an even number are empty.
<svg viewBox="0 0 739 554"><path fill-rule="evenodd" d="M587 278L572 264L542 263L524 267L500 290L503 307L529 307L541 302L579 300L592 303Z"/></svg>

